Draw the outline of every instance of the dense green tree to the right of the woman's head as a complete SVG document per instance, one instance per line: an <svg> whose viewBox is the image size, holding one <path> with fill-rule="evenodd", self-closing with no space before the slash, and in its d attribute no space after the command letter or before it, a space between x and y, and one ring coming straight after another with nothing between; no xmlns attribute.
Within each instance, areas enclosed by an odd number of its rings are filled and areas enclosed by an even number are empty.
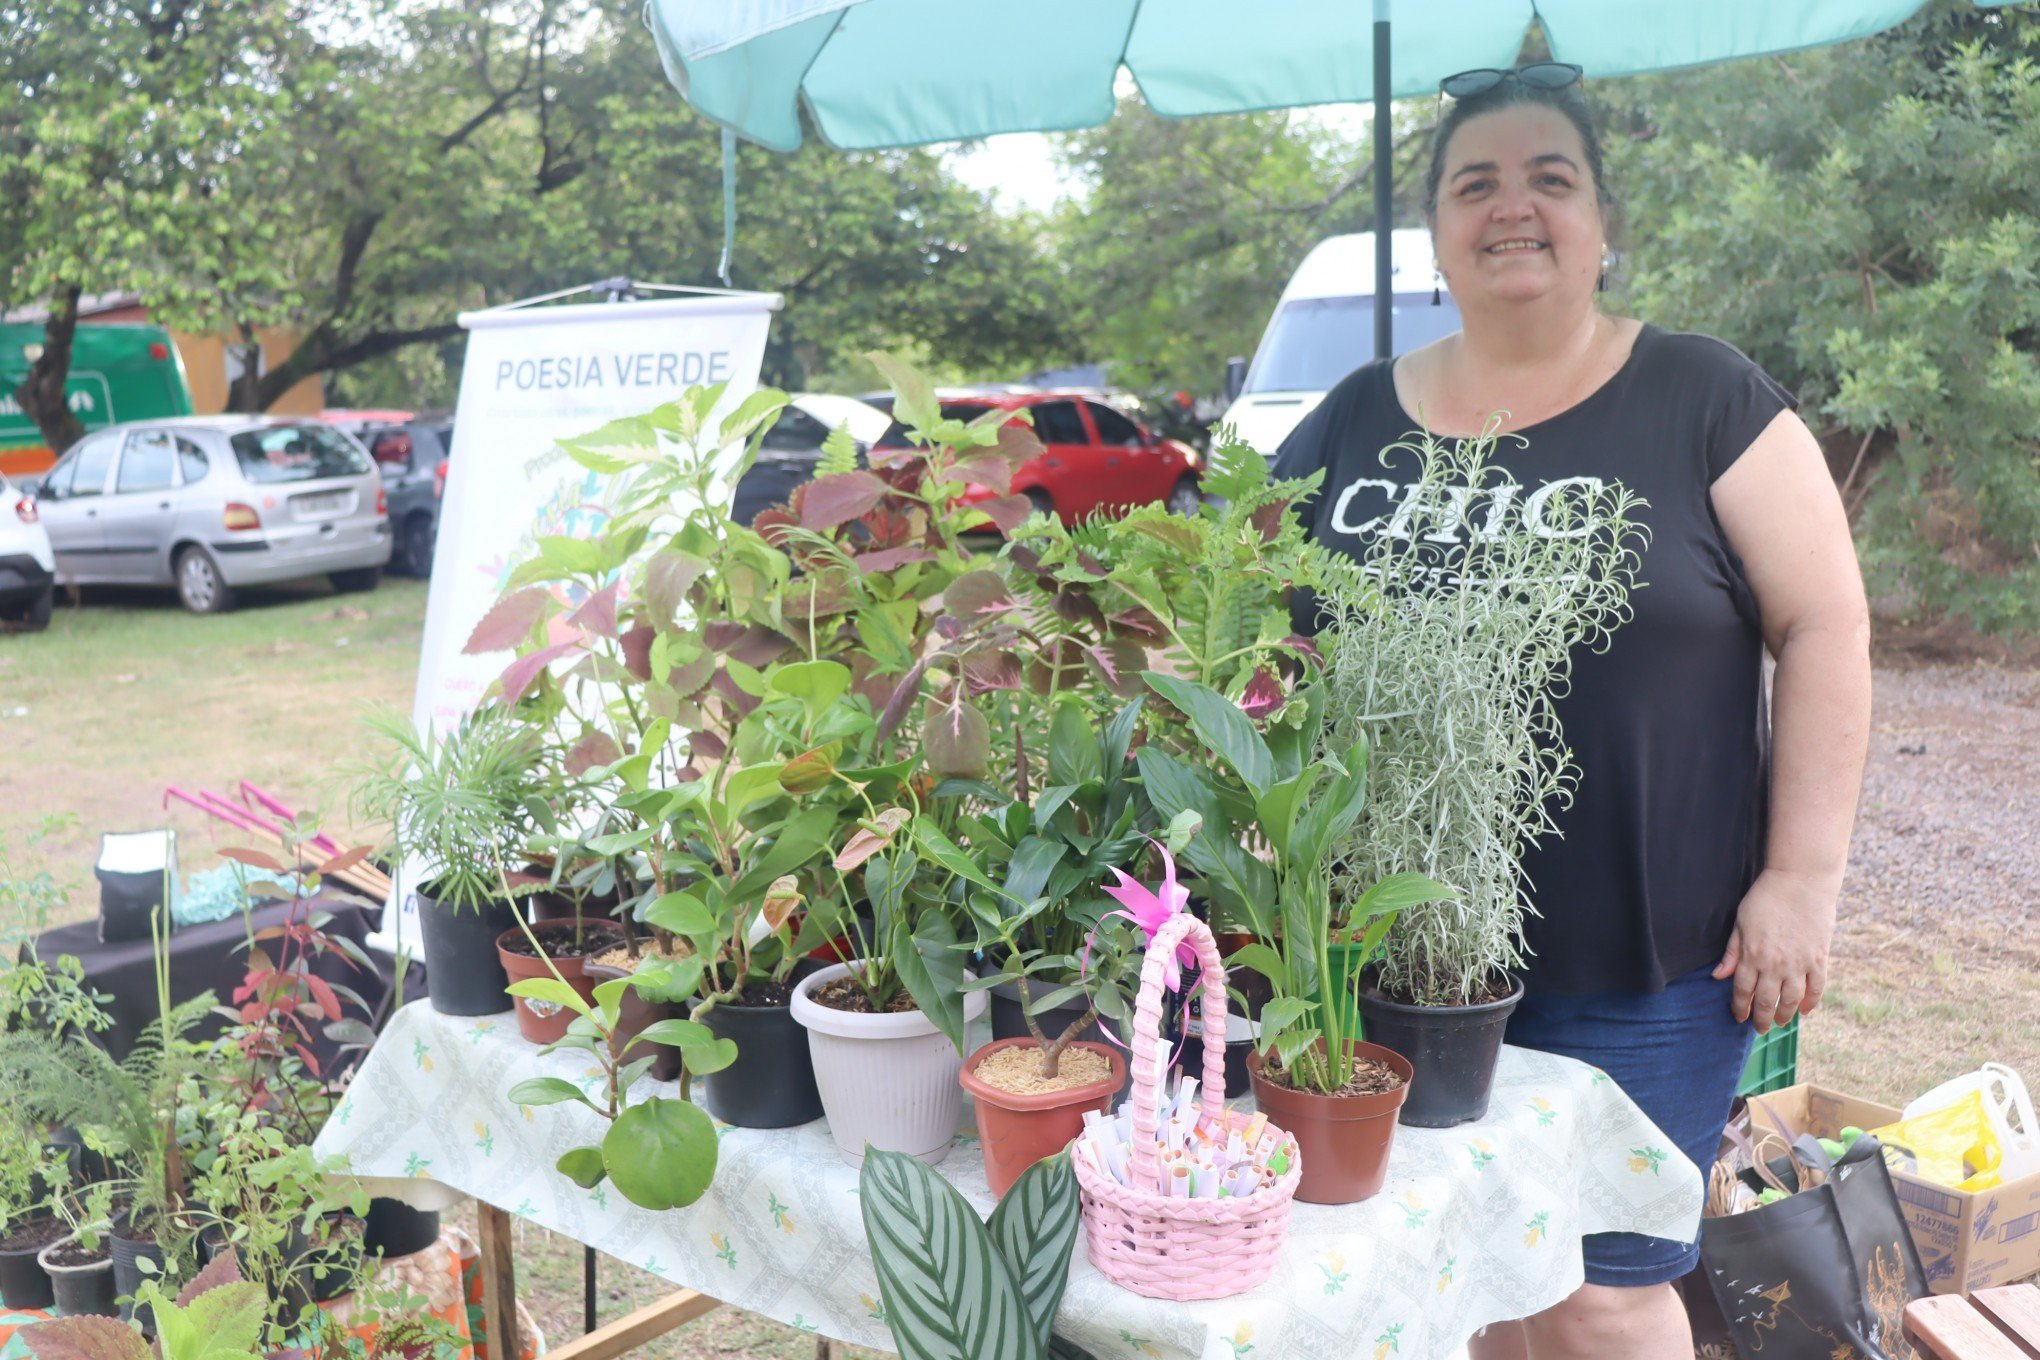
<svg viewBox="0 0 2040 1360"><path fill-rule="evenodd" d="M2040 12L1599 94L1636 314L1799 391L1887 608L2040 626Z"/></svg>

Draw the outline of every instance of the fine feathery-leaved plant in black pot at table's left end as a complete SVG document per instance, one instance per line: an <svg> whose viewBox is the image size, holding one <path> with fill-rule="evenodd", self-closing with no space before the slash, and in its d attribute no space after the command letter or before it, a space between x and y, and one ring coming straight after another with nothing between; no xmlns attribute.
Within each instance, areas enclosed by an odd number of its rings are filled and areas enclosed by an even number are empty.
<svg viewBox="0 0 2040 1360"><path fill-rule="evenodd" d="M396 712L367 722L388 756L355 771L355 812L388 824L398 850L430 867L416 897L432 1009L494 1015L510 985L498 940L518 924L508 867L522 865L545 742L496 705L439 738Z"/></svg>

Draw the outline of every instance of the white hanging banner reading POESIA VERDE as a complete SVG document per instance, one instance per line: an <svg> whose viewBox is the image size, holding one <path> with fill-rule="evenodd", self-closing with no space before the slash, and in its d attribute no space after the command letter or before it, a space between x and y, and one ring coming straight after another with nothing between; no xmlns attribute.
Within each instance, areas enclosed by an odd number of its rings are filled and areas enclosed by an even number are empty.
<svg viewBox="0 0 2040 1360"><path fill-rule="evenodd" d="M777 294L710 294L461 316L467 361L424 606L418 730L451 728L510 663L510 652L465 657L461 648L518 559L541 536L585 538L606 518L604 479L567 459L559 440L696 385L728 383L726 412L757 389L777 306ZM404 948L416 952L410 877L400 871L398 893Z"/></svg>

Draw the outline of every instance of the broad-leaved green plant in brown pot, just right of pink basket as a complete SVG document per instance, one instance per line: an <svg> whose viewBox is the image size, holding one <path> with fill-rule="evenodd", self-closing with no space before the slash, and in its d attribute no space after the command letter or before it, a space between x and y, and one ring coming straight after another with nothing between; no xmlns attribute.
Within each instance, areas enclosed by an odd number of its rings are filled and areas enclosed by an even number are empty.
<svg viewBox="0 0 2040 1360"><path fill-rule="evenodd" d="M1185 858L1204 873L1208 891L1253 922L1259 940L1232 958L1267 977L1275 993L1261 1007L1257 1052L1246 1060L1255 1103L1295 1136L1304 1162L1297 1199L1367 1199L1387 1174L1395 1111L1412 1081L1404 1056L1361 1040L1357 1011L1342 999L1357 977L1340 975L1330 954L1332 846L1367 801L1367 744L1334 752L1322 742L1316 687L1287 695L1259 728L1210 685L1157 671L1144 679L1187 718L1210 763L1144 748L1142 783L1165 816L1197 820ZM1255 854L1248 842L1267 852ZM1399 909L1444 891L1422 875L1373 883L1344 905L1338 934L1365 954Z"/></svg>

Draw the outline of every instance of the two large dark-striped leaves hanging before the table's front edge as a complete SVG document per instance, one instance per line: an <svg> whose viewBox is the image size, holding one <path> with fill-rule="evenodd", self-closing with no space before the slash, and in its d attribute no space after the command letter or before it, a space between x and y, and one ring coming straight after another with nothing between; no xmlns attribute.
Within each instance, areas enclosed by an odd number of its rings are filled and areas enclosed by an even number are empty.
<svg viewBox="0 0 2040 1360"><path fill-rule="evenodd" d="M922 1162L871 1148L857 1174L885 1325L914 1360L1047 1360L1077 1246L1069 1156L1036 1162L985 1223Z"/></svg>

